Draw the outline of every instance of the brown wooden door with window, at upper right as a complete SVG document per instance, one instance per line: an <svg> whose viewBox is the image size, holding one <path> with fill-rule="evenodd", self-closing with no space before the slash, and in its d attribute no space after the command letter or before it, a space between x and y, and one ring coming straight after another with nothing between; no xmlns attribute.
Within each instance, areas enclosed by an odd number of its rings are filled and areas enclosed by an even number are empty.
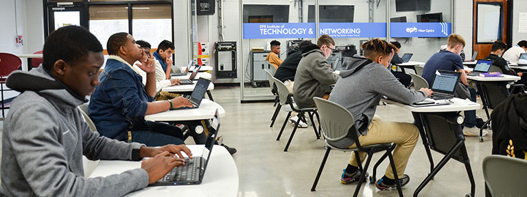
<svg viewBox="0 0 527 197"><path fill-rule="evenodd" d="M472 51L478 51L476 60L487 57L491 53L493 42L496 40L502 40L510 45L507 43L507 38L511 34L508 24L508 1L474 0ZM467 58L471 58L472 54L465 55Z"/></svg>

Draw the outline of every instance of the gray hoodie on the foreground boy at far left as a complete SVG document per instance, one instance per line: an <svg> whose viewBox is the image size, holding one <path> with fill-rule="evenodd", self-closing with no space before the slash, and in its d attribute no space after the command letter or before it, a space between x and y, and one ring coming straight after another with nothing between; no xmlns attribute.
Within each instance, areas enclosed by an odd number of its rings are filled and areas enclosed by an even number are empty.
<svg viewBox="0 0 527 197"><path fill-rule="evenodd" d="M148 185L141 168L84 177L82 155L132 159L132 149L141 144L91 131L77 109L86 99L74 96L42 66L14 71L6 85L23 93L3 122L0 196L124 196Z"/></svg>

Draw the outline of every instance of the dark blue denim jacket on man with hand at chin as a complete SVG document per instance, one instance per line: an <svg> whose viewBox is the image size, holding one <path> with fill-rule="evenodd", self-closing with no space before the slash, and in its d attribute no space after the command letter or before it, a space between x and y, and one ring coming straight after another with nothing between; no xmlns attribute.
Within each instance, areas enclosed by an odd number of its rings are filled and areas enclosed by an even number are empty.
<svg viewBox="0 0 527 197"><path fill-rule="evenodd" d="M89 116L101 135L124 140L127 131L145 124L148 102L154 98L146 92L141 75L115 55L108 57L99 80L91 95Z"/></svg>

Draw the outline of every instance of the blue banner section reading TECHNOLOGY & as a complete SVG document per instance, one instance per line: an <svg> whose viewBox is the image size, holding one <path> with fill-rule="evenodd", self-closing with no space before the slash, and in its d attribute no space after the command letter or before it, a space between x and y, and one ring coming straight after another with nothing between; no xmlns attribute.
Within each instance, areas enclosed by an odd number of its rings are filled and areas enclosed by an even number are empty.
<svg viewBox="0 0 527 197"><path fill-rule="evenodd" d="M315 38L315 23L244 23L244 39Z"/></svg>

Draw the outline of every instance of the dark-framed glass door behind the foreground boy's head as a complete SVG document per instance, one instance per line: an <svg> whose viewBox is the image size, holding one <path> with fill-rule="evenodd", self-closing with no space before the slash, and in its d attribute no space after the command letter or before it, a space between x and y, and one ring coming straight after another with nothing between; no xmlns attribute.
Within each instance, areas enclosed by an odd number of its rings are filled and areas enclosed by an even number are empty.
<svg viewBox="0 0 527 197"><path fill-rule="evenodd" d="M82 4L48 5L45 37L52 31L68 25L77 25L88 29L88 14Z"/></svg>

